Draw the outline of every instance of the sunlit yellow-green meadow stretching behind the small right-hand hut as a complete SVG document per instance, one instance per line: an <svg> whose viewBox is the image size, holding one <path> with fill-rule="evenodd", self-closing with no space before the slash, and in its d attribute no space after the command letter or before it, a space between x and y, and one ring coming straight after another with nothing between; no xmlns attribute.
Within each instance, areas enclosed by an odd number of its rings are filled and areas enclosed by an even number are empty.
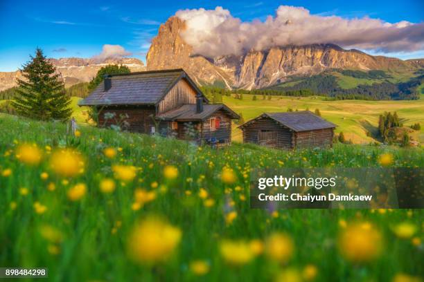
<svg viewBox="0 0 424 282"><path fill-rule="evenodd" d="M424 95L420 100L403 101L365 101L365 100L335 100L326 101L324 97L285 97L272 96L272 100L252 101L251 95L243 95L243 100L233 97L223 97L227 104L236 113L242 113L245 121L256 118L264 112L287 111L290 107L299 111L309 108L310 111L319 109L326 120L337 124L336 132L343 131L346 139L355 143L373 142L373 138L366 136L366 131L375 131L378 126L378 116L385 111L396 111L402 122L408 126L416 122L424 124ZM241 131L233 127L233 140L241 141ZM415 140L424 142L424 130L412 133Z"/></svg>

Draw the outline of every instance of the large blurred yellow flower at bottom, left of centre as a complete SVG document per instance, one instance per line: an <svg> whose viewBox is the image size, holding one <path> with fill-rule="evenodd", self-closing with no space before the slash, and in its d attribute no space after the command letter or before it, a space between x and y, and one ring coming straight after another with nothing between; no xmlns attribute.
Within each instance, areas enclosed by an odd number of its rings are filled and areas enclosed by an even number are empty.
<svg viewBox="0 0 424 282"><path fill-rule="evenodd" d="M128 239L128 252L139 263L166 261L181 241L179 228L158 218L147 218L136 225Z"/></svg>

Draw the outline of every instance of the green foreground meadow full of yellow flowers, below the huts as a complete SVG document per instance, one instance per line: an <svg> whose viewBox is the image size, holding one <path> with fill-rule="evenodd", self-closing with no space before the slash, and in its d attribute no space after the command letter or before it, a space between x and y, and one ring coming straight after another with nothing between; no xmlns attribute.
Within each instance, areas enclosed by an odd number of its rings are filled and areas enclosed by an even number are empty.
<svg viewBox="0 0 424 282"><path fill-rule="evenodd" d="M423 211L249 207L254 167L423 167L423 149L196 147L0 115L0 266L51 281L423 281Z"/></svg>

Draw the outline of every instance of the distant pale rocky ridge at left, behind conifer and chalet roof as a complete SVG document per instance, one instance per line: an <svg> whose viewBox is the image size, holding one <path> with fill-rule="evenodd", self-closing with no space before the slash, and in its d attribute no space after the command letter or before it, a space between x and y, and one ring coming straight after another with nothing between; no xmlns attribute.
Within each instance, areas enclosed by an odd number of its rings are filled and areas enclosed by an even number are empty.
<svg viewBox="0 0 424 282"><path fill-rule="evenodd" d="M98 70L107 64L123 64L131 71L145 71L145 65L139 59L129 57L116 57L108 59L82 59L61 58L50 59L53 65L62 75L65 86L71 86L79 82L89 82L96 76ZM19 71L0 72L0 91L16 85L16 79L21 78Z"/></svg>

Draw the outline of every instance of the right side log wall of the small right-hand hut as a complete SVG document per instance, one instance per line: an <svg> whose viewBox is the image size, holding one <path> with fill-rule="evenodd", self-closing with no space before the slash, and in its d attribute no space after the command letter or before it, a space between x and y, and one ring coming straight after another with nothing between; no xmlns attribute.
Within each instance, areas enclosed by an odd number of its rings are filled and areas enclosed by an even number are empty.
<svg viewBox="0 0 424 282"><path fill-rule="evenodd" d="M297 148L326 147L333 145L333 129L318 129L295 133Z"/></svg>

